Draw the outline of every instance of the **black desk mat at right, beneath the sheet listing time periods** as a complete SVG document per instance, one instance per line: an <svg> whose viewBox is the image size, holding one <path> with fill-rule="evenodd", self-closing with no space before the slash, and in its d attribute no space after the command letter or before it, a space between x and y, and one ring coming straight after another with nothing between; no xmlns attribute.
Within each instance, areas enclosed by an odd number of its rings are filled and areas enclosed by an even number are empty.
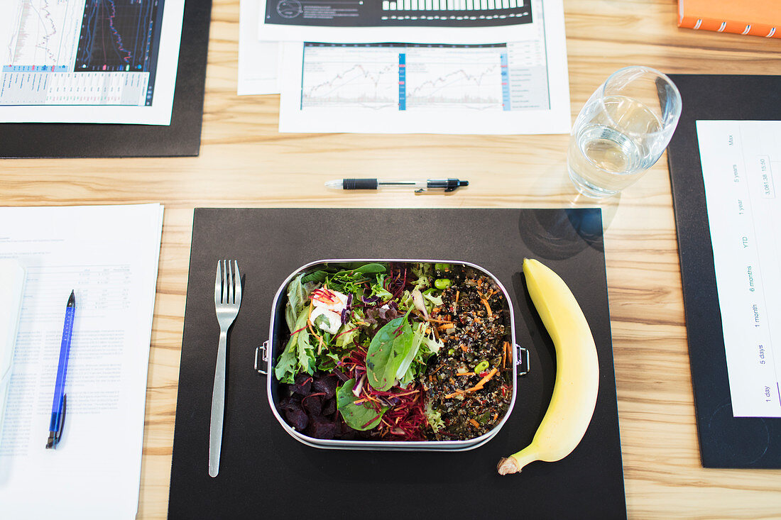
<svg viewBox="0 0 781 520"><path fill-rule="evenodd" d="M781 76L671 74L683 101L667 158L705 468L781 468L781 418L733 417L698 119L781 120Z"/></svg>

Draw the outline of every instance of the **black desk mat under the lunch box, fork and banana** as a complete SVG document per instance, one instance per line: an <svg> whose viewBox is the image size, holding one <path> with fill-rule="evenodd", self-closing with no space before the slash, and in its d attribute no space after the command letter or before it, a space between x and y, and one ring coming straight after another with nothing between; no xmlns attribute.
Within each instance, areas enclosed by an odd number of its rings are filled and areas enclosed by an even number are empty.
<svg viewBox="0 0 781 520"><path fill-rule="evenodd" d="M532 439L550 400L555 358L526 294L522 259L555 269L576 295L601 369L594 418L556 463L500 476L501 456ZM209 477L209 413L219 326L219 258L244 289L228 344L219 475ZM530 349L508 422L458 453L323 450L284 432L253 368L280 283L324 258L462 259L512 295L516 341ZM625 518L608 294L599 209L196 209L173 442L169 518Z"/></svg>

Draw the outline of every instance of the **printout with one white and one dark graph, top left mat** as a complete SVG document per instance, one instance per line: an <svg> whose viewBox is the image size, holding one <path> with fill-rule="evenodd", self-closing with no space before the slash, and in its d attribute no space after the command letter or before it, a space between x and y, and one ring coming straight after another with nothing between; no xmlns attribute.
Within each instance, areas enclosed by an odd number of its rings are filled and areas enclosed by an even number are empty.
<svg viewBox="0 0 781 520"><path fill-rule="evenodd" d="M184 0L2 0L0 122L169 125Z"/></svg>

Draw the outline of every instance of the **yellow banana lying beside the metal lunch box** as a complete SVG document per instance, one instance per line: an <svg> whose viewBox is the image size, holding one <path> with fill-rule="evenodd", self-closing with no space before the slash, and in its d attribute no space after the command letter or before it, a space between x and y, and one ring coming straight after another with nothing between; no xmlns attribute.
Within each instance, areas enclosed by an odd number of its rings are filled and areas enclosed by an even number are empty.
<svg viewBox="0 0 781 520"><path fill-rule="evenodd" d="M533 461L559 461L572 453L591 422L599 390L597 347L572 291L537 260L524 258L523 274L555 346L556 378L551 404L532 443L499 461L501 475L519 472Z"/></svg>

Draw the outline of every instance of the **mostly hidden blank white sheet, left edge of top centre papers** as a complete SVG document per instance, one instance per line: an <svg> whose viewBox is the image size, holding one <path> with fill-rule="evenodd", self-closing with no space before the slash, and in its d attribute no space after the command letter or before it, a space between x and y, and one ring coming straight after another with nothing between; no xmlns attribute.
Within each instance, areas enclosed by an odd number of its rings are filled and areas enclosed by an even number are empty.
<svg viewBox="0 0 781 520"><path fill-rule="evenodd" d="M260 0L239 5L239 73L237 94L279 94L280 44L259 41Z"/></svg>

